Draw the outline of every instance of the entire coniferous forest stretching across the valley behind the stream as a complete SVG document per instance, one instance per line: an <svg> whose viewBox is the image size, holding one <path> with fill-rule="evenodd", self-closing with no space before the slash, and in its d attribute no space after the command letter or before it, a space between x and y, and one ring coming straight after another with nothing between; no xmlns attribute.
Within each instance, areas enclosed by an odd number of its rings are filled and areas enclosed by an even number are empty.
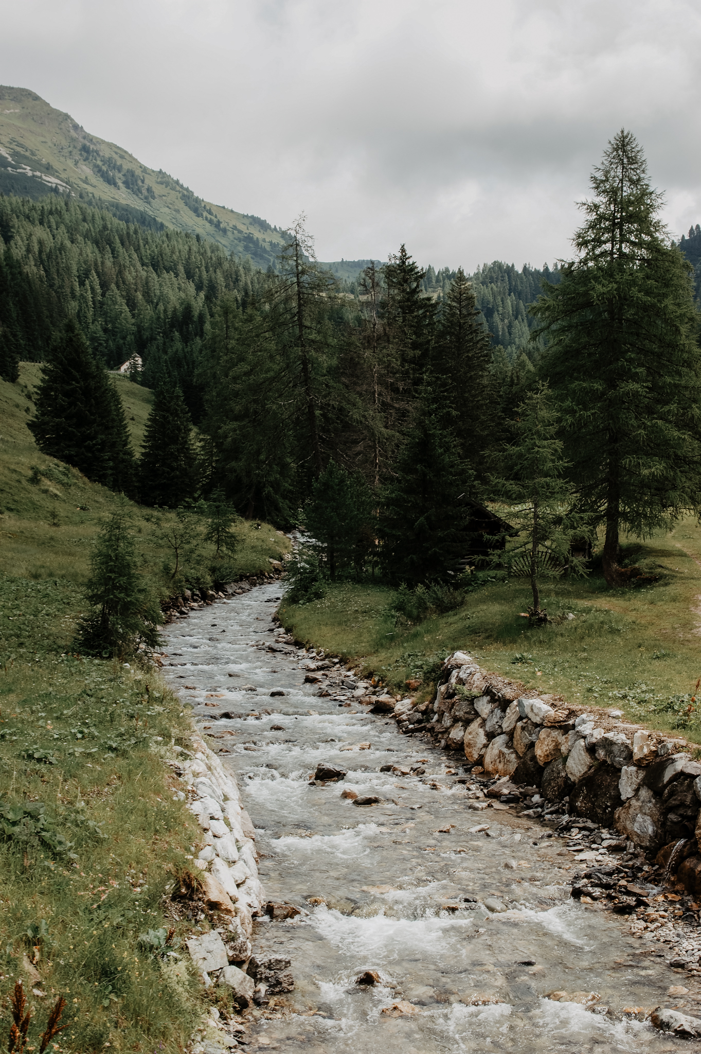
<svg viewBox="0 0 701 1054"><path fill-rule="evenodd" d="M436 271L402 245L354 281L316 261L303 219L263 272L199 236L3 196L0 372L44 364L29 427L89 479L304 524L300 597L344 575L447 589L518 533L538 618L548 564L577 570L598 542L624 584L626 532L701 510L701 231L670 240L627 132L590 189L553 269ZM155 390L139 451L108 374L129 359Z"/></svg>

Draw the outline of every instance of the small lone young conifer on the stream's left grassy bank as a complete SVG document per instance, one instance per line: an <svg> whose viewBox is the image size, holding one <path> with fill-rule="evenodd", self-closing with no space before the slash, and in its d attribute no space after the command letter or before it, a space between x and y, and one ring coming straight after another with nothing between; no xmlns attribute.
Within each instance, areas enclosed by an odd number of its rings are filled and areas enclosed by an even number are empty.
<svg viewBox="0 0 701 1054"><path fill-rule="evenodd" d="M94 656L124 659L140 644L160 644L161 609L137 568L126 504L117 506L98 534L85 599L91 611L78 624L76 646Z"/></svg>

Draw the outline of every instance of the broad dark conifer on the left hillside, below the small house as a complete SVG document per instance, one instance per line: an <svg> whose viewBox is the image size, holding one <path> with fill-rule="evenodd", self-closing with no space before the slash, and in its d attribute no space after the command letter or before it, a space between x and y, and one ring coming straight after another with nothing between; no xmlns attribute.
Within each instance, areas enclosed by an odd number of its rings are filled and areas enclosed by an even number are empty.
<svg viewBox="0 0 701 1054"><path fill-rule="evenodd" d="M131 491L134 454L119 394L69 318L44 364L28 422L39 449L88 480Z"/></svg>

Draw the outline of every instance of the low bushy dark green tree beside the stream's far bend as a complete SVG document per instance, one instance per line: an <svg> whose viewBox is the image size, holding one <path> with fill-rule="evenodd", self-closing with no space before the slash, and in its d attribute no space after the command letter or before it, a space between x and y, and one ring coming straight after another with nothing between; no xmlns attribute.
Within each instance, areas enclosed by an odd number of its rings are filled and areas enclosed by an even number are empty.
<svg viewBox="0 0 701 1054"><path fill-rule="evenodd" d="M312 496L304 506L304 524L323 546L332 582L337 572L362 569L369 542L372 504L364 481L333 461L314 481Z"/></svg>

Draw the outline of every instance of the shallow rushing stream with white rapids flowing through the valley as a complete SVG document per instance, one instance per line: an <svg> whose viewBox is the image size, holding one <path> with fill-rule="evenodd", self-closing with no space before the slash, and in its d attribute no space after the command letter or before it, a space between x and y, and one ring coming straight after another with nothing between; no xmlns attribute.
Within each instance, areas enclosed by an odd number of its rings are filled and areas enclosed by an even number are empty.
<svg viewBox="0 0 701 1054"><path fill-rule="evenodd" d="M257 828L267 898L304 909L256 924L255 953L291 959L297 987L287 1009L278 997L277 1010L255 1012L253 1043L319 1054L674 1050L623 1013L695 1012L667 995L680 978L660 945L569 898L572 855L546 828L508 809L469 811L445 755L387 718L319 698L296 655L262 648L279 596L261 586L167 631L165 674L229 752L220 756ZM217 720L224 710L236 717ZM309 785L319 762L346 778ZM341 797L348 787L381 802L354 805ZM506 911L489 911L494 901ZM380 983L356 983L364 971ZM544 998L553 991L574 998Z"/></svg>

